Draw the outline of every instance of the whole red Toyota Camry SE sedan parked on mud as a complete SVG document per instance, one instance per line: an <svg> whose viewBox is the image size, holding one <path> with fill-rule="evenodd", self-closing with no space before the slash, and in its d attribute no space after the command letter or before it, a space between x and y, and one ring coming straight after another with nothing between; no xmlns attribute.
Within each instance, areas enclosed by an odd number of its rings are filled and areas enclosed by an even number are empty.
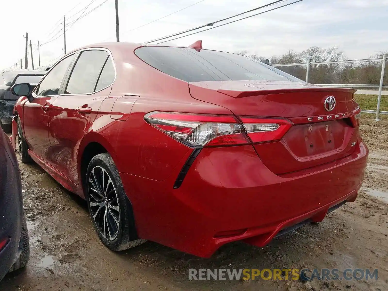
<svg viewBox="0 0 388 291"><path fill-rule="evenodd" d="M198 43L90 45L12 92L21 160L84 197L113 250L264 246L354 201L364 177L355 90Z"/></svg>

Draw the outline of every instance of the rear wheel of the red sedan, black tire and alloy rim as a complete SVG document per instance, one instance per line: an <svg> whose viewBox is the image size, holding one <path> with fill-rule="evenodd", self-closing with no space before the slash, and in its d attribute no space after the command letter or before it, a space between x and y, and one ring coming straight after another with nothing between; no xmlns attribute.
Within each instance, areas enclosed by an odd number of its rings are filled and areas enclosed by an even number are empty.
<svg viewBox="0 0 388 291"><path fill-rule="evenodd" d="M90 161L85 192L95 231L107 248L122 251L145 242L133 235L136 230L132 206L108 153L98 154Z"/></svg>

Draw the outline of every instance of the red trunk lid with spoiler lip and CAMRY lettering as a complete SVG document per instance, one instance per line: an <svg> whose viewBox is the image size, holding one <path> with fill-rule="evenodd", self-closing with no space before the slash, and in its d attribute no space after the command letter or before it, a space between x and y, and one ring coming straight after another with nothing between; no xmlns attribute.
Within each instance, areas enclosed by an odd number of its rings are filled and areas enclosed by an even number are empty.
<svg viewBox="0 0 388 291"><path fill-rule="evenodd" d="M353 89L279 81L192 82L189 89L193 98L226 107L237 116L293 122L281 140L253 145L263 163L279 175L343 158L354 151L359 137L351 120L358 107ZM330 96L336 103L327 111L325 100Z"/></svg>

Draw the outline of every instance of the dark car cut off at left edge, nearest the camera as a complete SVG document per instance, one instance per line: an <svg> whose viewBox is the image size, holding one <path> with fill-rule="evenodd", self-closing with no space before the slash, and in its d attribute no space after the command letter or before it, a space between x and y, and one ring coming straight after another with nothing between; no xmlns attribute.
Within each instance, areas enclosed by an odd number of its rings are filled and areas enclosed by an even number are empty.
<svg viewBox="0 0 388 291"><path fill-rule="evenodd" d="M25 267L29 242L19 165L9 137L0 129L0 281Z"/></svg>

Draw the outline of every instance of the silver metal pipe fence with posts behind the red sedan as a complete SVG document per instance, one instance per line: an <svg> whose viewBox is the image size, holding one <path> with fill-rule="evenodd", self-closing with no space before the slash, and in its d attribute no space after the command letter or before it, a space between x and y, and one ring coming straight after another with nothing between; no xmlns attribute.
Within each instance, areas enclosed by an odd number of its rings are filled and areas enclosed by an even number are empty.
<svg viewBox="0 0 388 291"><path fill-rule="evenodd" d="M306 82L308 82L308 73L310 70L310 65L323 65L323 64L346 64L352 62L381 62L381 78L380 85L368 85L368 84L315 84L324 87L344 87L344 88L379 88L379 95L377 99L376 110L364 110L361 109L361 112L364 113L373 113L376 114L376 121L379 121L379 114L388 114L388 111L380 111L380 103L381 103L381 91L383 88L388 88L388 85L383 84L384 79L384 70L386 63L386 55L383 55L381 58L376 59L360 59L360 60L349 60L349 61L329 61L329 62L300 62L295 64L275 64L273 67L287 67L287 66L306 66Z"/></svg>

